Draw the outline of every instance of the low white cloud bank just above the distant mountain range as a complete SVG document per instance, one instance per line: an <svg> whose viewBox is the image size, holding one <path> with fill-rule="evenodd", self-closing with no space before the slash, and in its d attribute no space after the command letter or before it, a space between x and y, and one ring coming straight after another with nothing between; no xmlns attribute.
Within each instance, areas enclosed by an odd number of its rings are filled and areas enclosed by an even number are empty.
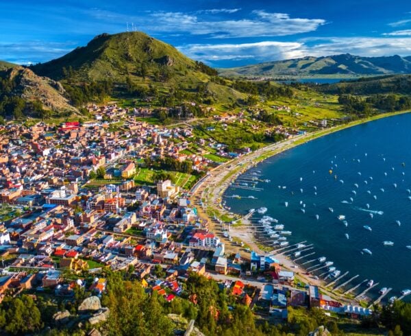
<svg viewBox="0 0 411 336"><path fill-rule="evenodd" d="M358 56L411 55L411 38L334 37L305 38L296 42L263 41L240 44L192 44L177 47L191 58L205 62L249 60L268 62L305 56L329 56L351 53Z"/></svg>

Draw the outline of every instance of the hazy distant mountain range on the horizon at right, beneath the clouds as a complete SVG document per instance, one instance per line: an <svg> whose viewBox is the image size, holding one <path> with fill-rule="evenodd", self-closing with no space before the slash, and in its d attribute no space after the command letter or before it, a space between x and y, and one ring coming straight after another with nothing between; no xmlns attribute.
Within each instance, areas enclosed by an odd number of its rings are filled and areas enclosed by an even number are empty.
<svg viewBox="0 0 411 336"><path fill-rule="evenodd" d="M411 73L411 56L360 57L349 53L219 69L223 76L384 75Z"/></svg>

